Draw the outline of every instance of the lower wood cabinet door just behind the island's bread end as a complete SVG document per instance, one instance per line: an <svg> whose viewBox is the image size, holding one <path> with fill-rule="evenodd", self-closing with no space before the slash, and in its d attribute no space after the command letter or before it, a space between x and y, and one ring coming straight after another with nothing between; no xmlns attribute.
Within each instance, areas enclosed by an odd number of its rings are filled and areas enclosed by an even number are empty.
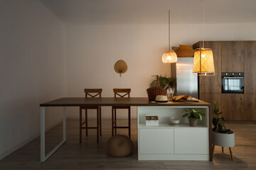
<svg viewBox="0 0 256 170"><path fill-rule="evenodd" d="M221 111L221 94L200 94L200 99L202 101L206 101L212 105L212 110L214 110L214 103L217 101L219 109ZM213 113L212 118L215 117L215 114Z"/></svg>

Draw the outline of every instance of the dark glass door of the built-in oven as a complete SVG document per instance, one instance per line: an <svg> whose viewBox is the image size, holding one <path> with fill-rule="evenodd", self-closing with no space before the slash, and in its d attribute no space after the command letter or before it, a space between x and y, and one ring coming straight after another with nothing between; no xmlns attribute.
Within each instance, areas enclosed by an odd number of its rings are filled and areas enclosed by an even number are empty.
<svg viewBox="0 0 256 170"><path fill-rule="evenodd" d="M222 77L221 89L223 94L243 94L243 77Z"/></svg>

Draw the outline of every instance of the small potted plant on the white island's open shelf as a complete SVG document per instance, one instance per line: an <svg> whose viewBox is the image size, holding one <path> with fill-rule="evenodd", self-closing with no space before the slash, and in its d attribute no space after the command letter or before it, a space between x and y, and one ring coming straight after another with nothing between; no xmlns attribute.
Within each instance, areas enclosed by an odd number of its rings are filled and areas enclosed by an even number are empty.
<svg viewBox="0 0 256 170"><path fill-rule="evenodd" d="M198 119L202 120L203 113L194 110L193 108L184 109L187 113L185 113L182 117L188 116L189 125L196 127L198 123Z"/></svg>

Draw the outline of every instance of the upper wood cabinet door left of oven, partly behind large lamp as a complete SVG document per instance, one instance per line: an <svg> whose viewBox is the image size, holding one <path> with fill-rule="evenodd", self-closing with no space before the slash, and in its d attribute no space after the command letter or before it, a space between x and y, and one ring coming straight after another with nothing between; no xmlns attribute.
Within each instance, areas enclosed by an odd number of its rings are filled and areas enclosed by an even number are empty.
<svg viewBox="0 0 256 170"><path fill-rule="evenodd" d="M199 93L203 94L220 94L221 93L221 42L206 41L206 48L213 50L213 60L215 75L198 77L199 78Z"/></svg>

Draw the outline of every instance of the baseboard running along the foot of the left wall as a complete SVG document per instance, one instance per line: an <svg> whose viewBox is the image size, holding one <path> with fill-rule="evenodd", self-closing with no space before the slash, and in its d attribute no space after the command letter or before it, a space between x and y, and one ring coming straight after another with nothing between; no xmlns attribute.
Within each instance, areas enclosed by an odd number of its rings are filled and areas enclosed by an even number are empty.
<svg viewBox="0 0 256 170"><path fill-rule="evenodd" d="M46 129L46 132L48 130L50 130L51 128L55 127L56 125L62 123L62 122L63 122L63 120L61 119L57 123L54 123L53 125L51 125L49 128ZM41 132L38 132L35 135L32 135L31 137L28 137L28 139L23 140L23 142L19 143L15 147L12 147L11 149L9 149L6 152L4 152L3 154L0 154L0 161L1 161L1 159L4 159L5 157L7 157L9 154L15 152L17 149L19 149L19 148L23 147L24 145L26 145L28 142L31 142L32 140L35 140L36 137L39 137L41 135L40 133Z"/></svg>

